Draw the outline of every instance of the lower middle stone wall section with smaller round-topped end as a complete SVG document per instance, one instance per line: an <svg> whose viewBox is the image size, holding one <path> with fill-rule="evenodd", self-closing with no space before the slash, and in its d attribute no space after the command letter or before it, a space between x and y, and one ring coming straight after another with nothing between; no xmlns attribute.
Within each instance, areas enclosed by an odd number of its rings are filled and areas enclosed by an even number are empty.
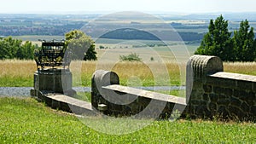
<svg viewBox="0 0 256 144"><path fill-rule="evenodd" d="M186 107L185 98L121 86L115 72L96 71L91 84L93 108L110 116L170 118Z"/></svg>

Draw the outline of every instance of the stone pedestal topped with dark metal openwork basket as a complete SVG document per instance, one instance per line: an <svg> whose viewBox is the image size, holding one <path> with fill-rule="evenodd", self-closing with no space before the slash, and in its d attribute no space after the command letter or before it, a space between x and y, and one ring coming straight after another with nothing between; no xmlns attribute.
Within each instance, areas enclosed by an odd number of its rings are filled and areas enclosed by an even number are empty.
<svg viewBox="0 0 256 144"><path fill-rule="evenodd" d="M38 71L34 73L34 89L31 90L31 95L38 98L39 95L47 93L74 95L72 73L69 70L71 60L67 56L64 58L64 40L41 42L42 47L34 53Z"/></svg>

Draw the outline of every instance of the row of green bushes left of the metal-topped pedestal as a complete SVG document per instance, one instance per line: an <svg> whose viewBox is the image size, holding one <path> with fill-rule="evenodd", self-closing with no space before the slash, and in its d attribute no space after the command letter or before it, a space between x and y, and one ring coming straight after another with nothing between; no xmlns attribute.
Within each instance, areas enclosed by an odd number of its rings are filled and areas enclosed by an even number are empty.
<svg viewBox="0 0 256 144"><path fill-rule="evenodd" d="M5 37L0 39L0 60L3 59L20 59L32 60L35 45L26 41L22 44L19 39Z"/></svg>

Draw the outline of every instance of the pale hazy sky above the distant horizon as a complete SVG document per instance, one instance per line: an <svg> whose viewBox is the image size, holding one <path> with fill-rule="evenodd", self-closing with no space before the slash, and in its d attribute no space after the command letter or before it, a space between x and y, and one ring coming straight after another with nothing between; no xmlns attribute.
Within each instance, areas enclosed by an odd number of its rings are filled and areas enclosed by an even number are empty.
<svg viewBox="0 0 256 144"><path fill-rule="evenodd" d="M2 1L2 2L1 2ZM255 0L1 0L4 14L139 11L151 13L256 12Z"/></svg>

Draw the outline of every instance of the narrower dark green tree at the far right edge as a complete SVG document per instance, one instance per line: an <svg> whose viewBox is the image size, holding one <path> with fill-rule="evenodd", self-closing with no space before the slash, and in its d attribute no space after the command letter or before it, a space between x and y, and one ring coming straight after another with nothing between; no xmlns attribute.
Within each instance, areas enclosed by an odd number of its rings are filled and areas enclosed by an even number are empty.
<svg viewBox="0 0 256 144"><path fill-rule="evenodd" d="M234 32L233 39L236 60L253 61L255 59L256 45L253 27L250 28L248 20L241 21L240 28Z"/></svg>

